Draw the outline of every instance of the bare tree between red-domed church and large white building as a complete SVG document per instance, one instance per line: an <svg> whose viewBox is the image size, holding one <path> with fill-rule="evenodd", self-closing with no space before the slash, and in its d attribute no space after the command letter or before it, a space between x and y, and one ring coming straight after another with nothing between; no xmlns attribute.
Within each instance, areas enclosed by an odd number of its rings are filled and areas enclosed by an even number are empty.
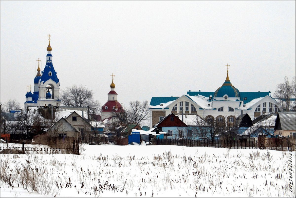
<svg viewBox="0 0 296 198"><path fill-rule="evenodd" d="M128 114L131 123L140 124L142 121L148 119L148 100L144 100L142 103L139 100L131 101L129 105L130 109L128 110Z"/></svg>

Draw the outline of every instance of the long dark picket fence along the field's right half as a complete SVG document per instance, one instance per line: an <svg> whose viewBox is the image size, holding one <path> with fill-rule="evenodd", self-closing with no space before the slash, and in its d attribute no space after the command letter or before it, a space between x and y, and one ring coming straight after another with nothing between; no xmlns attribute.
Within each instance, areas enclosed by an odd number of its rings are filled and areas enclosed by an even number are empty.
<svg viewBox="0 0 296 198"><path fill-rule="evenodd" d="M279 151L287 151L289 142L287 139L263 140L190 140L190 139L155 139L153 145L175 145L175 146L204 146L213 148L229 148L229 149L272 149Z"/></svg>

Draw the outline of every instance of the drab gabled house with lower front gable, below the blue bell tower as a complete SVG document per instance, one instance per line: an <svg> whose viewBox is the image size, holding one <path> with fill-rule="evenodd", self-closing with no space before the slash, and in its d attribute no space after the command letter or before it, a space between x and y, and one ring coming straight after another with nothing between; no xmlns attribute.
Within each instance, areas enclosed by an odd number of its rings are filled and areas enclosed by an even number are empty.
<svg viewBox="0 0 296 198"><path fill-rule="evenodd" d="M91 124L83 119L75 111L65 118L59 119L48 130L50 136L53 137L72 137L79 139L85 132L91 131Z"/></svg>

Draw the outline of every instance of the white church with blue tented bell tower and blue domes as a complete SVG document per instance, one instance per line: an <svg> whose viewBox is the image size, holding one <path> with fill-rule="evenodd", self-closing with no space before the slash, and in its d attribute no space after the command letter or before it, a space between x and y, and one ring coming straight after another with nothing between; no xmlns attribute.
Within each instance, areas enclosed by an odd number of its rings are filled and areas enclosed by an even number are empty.
<svg viewBox="0 0 296 198"><path fill-rule="evenodd" d="M57 72L54 70L52 64L52 47L50 46L50 34L48 35L48 47L46 55L46 65L44 70L40 73L39 58L37 74L34 78L34 91L33 93L27 91L25 108L32 106L60 106L61 100L59 100L59 79L57 78Z"/></svg>

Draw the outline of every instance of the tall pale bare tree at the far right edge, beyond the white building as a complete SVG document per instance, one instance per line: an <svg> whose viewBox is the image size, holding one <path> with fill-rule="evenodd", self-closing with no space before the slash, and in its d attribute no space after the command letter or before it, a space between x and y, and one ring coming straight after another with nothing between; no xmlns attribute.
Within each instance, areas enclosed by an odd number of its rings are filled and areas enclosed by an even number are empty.
<svg viewBox="0 0 296 198"><path fill-rule="evenodd" d="M279 98L278 102L282 111L289 111L295 104L291 101L291 98L295 98L295 76L291 83L287 76L284 78L284 82L276 86L274 98Z"/></svg>

